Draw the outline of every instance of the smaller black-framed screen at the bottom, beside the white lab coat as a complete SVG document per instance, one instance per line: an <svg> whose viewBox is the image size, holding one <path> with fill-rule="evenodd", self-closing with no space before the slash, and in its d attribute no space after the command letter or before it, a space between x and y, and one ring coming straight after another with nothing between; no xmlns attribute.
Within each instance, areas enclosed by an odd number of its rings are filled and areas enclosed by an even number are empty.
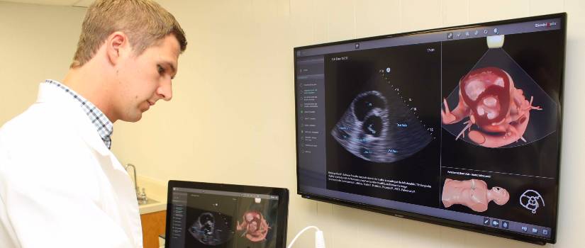
<svg viewBox="0 0 585 248"><path fill-rule="evenodd" d="M169 181L165 248L285 248L289 190Z"/></svg>

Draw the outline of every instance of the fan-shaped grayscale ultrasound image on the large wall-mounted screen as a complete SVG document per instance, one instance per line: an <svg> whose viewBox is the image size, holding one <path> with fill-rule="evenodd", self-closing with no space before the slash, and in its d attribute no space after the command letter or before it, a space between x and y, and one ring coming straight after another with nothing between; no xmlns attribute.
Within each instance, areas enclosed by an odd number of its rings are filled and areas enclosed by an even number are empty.
<svg viewBox="0 0 585 248"><path fill-rule="evenodd" d="M422 150L432 140L396 93L358 94L331 135L342 147L371 162L396 162Z"/></svg>

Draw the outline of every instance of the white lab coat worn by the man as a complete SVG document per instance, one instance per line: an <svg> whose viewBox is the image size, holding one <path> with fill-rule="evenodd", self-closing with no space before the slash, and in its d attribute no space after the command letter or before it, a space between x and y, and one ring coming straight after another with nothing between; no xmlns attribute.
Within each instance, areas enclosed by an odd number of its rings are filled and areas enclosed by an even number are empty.
<svg viewBox="0 0 585 248"><path fill-rule="evenodd" d="M143 247L133 184L62 89L0 128L0 247Z"/></svg>

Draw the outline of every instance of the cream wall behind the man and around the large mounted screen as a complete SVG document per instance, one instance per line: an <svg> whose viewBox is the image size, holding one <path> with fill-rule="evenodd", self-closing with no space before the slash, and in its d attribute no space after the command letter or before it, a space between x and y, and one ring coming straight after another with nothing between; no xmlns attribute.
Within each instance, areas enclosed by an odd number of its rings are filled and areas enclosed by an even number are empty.
<svg viewBox="0 0 585 248"><path fill-rule="evenodd" d="M174 98L157 103L139 123L116 123L113 151L123 163L137 165L138 173L157 181L182 179L232 184L281 186L291 190L289 241L306 225L325 232L328 247L536 247L499 237L480 235L450 227L394 218L339 205L308 201L296 195L294 142L294 74L292 49L296 46L335 40L384 35L425 28L496 21L567 11L567 64L564 91L564 140L559 196L557 244L549 247L584 247L582 224L585 213L585 5L566 1L360 1L360 0L161 0L186 30L189 46L179 59ZM26 6L4 11L0 3L0 28L18 23ZM13 5L10 5L13 6ZM5 18L4 12L12 16ZM49 16L54 9L37 9ZM82 18L72 11L79 23ZM28 20L38 19L26 16ZM23 26L25 24L19 24ZM9 61L1 61L0 75L5 90L14 96L0 98L0 123L30 103L44 72L63 75L73 48L60 52L60 61L31 67L28 62L46 58L48 39L35 40L43 52L21 55L22 40L32 33L57 28L69 29L63 42L74 47L78 26L65 23L50 26L29 23L15 30L16 43L0 39L0 49L10 49ZM5 32L3 32L5 33ZM76 33L76 34L72 34ZM57 36L57 35L53 35ZM59 35L62 36L62 35ZM69 38L69 36L71 36ZM32 41L31 41L32 42ZM29 46L30 47L30 46ZM15 51L13 51L15 50ZM0 54L4 50L0 50ZM43 64L43 63L41 63ZM28 65L28 66L27 66ZM58 71L53 66L64 71ZM6 67L11 69L6 70ZM16 69L30 72L15 74ZM22 71L21 71L22 72ZM21 74L34 78L22 77ZM18 79L18 80L15 80ZM58 78L61 79L61 78ZM18 81L19 84L11 83ZM7 84L8 83L8 84ZM6 95L6 94L4 94ZM18 104L13 104L18 102ZM20 104L20 105L19 105ZM8 113L7 112L7 113ZM295 247L312 247L313 235L305 234Z"/></svg>

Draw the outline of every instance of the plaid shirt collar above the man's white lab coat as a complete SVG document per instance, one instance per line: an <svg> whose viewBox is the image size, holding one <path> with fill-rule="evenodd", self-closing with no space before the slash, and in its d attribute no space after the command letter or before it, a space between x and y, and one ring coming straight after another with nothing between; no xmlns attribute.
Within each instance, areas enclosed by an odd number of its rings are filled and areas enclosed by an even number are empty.
<svg viewBox="0 0 585 248"><path fill-rule="evenodd" d="M91 123L94 124L94 127L99 133L101 140L103 140L104 144L106 144L106 147L110 149L112 144L111 135L113 133L113 123L108 119L108 117L106 117L106 115L104 115L104 113L102 113L99 108L94 105L94 103L87 101L86 98L79 96L79 94L77 94L75 91L69 89L65 85L62 85L60 82L47 79L45 80L45 83L57 86L71 95L75 100L79 101L79 105L87 114L87 117L89 117Z"/></svg>

